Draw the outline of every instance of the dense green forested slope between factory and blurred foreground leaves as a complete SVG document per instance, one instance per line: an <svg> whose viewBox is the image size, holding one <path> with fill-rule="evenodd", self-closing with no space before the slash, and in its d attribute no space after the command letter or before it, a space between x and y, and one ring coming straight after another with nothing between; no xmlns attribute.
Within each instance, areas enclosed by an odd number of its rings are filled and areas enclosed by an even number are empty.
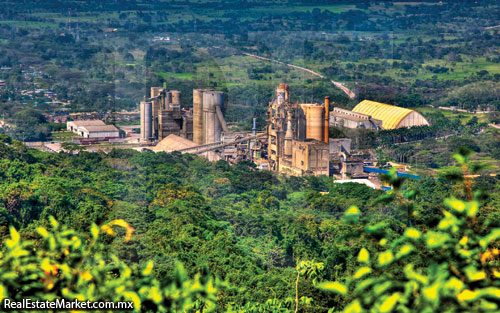
<svg viewBox="0 0 500 313"><path fill-rule="evenodd" d="M353 273L362 247L377 250L373 238L397 238L409 218L397 205L380 201L381 191L336 185L326 177L278 177L249 163L229 166L175 153L52 154L2 140L2 244L12 246L10 226L40 244L39 233L45 232L39 227L50 228L49 216L79 233L88 233L93 223L123 219L135 228L131 240L107 238L100 248L104 256L113 253L131 268L153 261L152 275L162 282L173 279L177 261L190 277L208 269L230 286L218 294L220 308L294 297L300 260L323 262L322 280L341 280ZM489 189L481 214L491 217L493 227L499 179L478 178L476 185ZM407 182L402 192L416 186ZM424 179L418 190L411 223L425 227L438 223L445 197L463 193L444 178ZM342 218L353 205L361 212L357 225ZM385 226L365 233L364 225L375 222ZM309 279L299 285L301 296L313 299L311 312L350 301L318 291Z"/></svg>

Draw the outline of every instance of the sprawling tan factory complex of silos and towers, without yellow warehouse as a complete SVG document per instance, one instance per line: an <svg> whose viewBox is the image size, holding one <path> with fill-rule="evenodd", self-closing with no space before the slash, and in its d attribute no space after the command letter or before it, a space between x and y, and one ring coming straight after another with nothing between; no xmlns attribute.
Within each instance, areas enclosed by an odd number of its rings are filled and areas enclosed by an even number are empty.
<svg viewBox="0 0 500 313"><path fill-rule="evenodd" d="M222 92L193 90L192 110L181 108L178 92L153 87L151 96L141 103L141 139L156 143L153 151L192 153L229 163L250 160L260 169L285 175L368 178L363 169L373 157L353 153L351 139L329 139L328 97L324 103L292 103L289 87L280 84L269 102L266 131L257 133L255 119L252 132L228 130ZM359 118L366 128L381 129L384 122L364 113L335 112Z"/></svg>

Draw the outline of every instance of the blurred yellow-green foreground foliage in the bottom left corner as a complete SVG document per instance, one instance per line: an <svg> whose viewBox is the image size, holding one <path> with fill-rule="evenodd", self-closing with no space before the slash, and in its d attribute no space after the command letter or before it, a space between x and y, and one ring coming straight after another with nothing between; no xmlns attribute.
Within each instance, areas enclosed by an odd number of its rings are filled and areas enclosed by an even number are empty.
<svg viewBox="0 0 500 313"><path fill-rule="evenodd" d="M124 220L90 233L79 234L50 219L50 228L38 227L39 242L22 239L14 227L0 260L0 300L131 301L135 312L210 312L215 308L219 281L208 274L187 276L178 264L174 278L161 283L152 277L153 262L131 268L115 255L103 254L107 235L115 226L125 230L125 242L134 229Z"/></svg>

